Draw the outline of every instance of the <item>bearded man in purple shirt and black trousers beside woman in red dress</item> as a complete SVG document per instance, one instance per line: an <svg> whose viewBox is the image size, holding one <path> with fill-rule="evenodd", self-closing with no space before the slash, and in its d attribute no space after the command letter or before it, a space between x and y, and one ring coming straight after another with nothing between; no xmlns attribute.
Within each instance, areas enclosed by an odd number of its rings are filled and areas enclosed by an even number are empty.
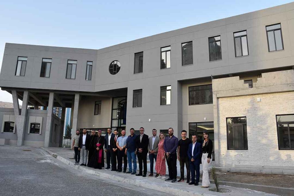
<svg viewBox="0 0 294 196"><path fill-rule="evenodd" d="M166 137L163 143L169 175L165 181L177 182L177 148L179 140L173 135L173 128L168 129L168 135L169 137Z"/></svg>

